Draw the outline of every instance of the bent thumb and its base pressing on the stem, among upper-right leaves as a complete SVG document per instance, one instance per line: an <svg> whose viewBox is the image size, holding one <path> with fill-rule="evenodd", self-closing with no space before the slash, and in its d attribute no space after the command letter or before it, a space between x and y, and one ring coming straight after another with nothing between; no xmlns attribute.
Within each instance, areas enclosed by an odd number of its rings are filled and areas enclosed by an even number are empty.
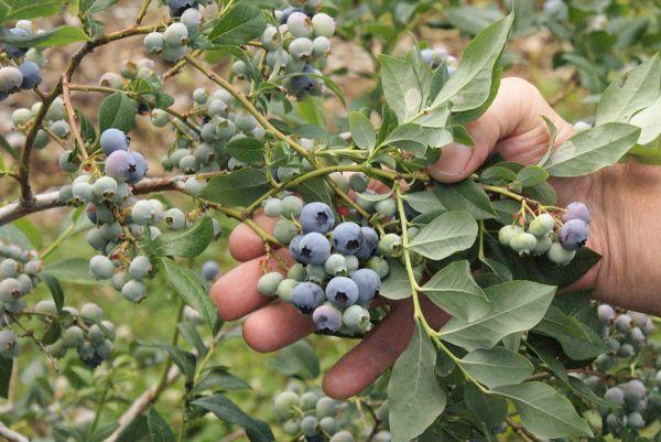
<svg viewBox="0 0 661 442"><path fill-rule="evenodd" d="M470 175L495 150L506 160L533 163L541 159L549 144L549 130L542 116L559 129L556 143L573 133L549 106L540 91L521 78L503 78L491 106L477 120L467 125L474 147L452 143L430 168L430 174L445 183L455 183Z"/></svg>

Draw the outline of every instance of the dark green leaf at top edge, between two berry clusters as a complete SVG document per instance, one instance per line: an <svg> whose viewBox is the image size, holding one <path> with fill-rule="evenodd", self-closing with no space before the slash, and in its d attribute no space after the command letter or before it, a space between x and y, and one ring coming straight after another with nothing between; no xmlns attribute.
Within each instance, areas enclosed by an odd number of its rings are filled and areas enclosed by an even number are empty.
<svg viewBox="0 0 661 442"><path fill-rule="evenodd" d="M240 45L260 36L266 26L263 12L253 4L241 2L220 17L208 39L216 45Z"/></svg>

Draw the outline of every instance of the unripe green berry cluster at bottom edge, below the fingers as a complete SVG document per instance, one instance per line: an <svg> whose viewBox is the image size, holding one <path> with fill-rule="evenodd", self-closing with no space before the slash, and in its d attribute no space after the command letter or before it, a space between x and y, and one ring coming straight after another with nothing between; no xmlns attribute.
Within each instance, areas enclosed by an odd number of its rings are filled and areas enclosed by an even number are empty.
<svg viewBox="0 0 661 442"><path fill-rule="evenodd" d="M297 382L291 382L273 400L275 418L284 432L292 438L304 436L308 442L354 442L349 430L356 413L349 408L349 402L332 399L316 387L305 389ZM390 432L382 430L370 440L390 442Z"/></svg>

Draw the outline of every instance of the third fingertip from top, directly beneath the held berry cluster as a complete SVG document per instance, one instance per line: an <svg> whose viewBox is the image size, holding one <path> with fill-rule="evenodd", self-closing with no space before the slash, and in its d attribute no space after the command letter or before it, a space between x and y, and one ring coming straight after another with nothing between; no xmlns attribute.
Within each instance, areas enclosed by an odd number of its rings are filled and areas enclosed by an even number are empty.
<svg viewBox="0 0 661 442"><path fill-rule="evenodd" d="M253 349L273 352L314 331L314 323L291 304L277 303L251 313L243 322L243 338Z"/></svg>

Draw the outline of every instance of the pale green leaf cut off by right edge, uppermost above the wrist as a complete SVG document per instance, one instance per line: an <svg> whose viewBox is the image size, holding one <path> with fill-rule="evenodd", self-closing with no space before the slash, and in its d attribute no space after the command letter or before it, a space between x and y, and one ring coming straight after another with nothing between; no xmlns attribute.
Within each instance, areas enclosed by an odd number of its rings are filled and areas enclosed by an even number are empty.
<svg viewBox="0 0 661 442"><path fill-rule="evenodd" d="M595 126L607 122L629 122L641 109L651 106L661 93L661 60L654 54L629 71L624 80L613 82L597 106Z"/></svg>

